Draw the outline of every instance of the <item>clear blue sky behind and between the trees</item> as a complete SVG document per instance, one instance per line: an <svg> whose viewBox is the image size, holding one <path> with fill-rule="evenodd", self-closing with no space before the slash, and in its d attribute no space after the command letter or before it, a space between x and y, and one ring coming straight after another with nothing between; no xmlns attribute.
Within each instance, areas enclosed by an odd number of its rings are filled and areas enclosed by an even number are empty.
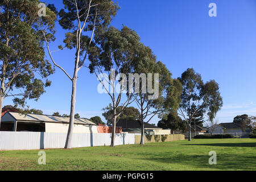
<svg viewBox="0 0 256 182"><path fill-rule="evenodd" d="M58 10L61 0L55 3ZM209 3L216 3L217 17L209 17ZM256 1L255 0L119 0L121 9L112 25L122 24L137 31L142 42L150 46L158 60L166 64L174 78L187 68L194 68L204 81L220 84L224 106L218 112L219 122L232 122L238 114L256 115ZM65 32L56 28L56 41L62 43ZM70 75L74 51L54 53L55 61ZM59 111L69 114L71 81L56 68L49 77L52 86L38 102L28 101L31 108L45 114ZM110 103L107 94L98 94L98 81L88 69L79 72L76 113L90 118L102 117L101 109ZM5 100L4 105L12 104ZM102 117L103 119L103 117ZM154 118L151 123L157 123Z"/></svg>

